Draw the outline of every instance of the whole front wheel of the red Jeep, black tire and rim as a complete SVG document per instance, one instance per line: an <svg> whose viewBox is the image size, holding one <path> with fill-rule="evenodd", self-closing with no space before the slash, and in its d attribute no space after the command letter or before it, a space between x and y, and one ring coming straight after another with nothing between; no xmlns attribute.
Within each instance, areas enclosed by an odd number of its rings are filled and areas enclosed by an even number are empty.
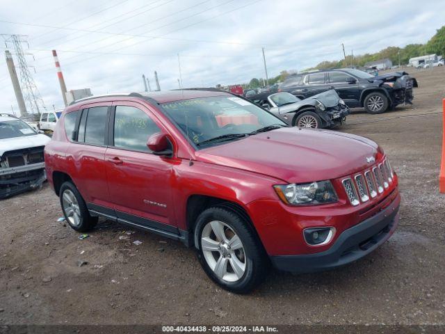
<svg viewBox="0 0 445 334"><path fill-rule="evenodd" d="M266 254L245 219L225 207L210 207L198 216L197 256L207 276L224 289L244 294L266 276Z"/></svg>

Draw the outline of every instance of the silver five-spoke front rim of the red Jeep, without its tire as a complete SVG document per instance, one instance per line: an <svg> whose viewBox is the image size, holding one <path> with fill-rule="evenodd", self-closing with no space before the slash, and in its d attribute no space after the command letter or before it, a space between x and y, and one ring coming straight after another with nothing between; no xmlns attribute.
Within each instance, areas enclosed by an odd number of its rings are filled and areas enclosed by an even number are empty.
<svg viewBox="0 0 445 334"><path fill-rule="evenodd" d="M201 233L201 248L218 278L236 282L243 277L247 264L243 243L229 225L222 221L207 223Z"/></svg>

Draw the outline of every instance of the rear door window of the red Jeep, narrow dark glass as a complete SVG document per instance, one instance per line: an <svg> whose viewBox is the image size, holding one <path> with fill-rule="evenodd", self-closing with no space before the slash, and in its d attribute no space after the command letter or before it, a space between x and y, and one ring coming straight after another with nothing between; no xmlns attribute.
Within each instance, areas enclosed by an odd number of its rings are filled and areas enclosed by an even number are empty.
<svg viewBox="0 0 445 334"><path fill-rule="evenodd" d="M95 106L88 109L85 125L85 143L105 145L108 106Z"/></svg>

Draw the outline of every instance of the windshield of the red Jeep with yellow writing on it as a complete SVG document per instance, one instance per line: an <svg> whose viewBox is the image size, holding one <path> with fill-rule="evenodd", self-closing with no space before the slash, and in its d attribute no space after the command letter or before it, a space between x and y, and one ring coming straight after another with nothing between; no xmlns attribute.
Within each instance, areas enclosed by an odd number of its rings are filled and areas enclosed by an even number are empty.
<svg viewBox="0 0 445 334"><path fill-rule="evenodd" d="M177 127L200 148L245 138L265 127L272 130L273 125L286 126L255 104L234 96L200 97L162 106Z"/></svg>

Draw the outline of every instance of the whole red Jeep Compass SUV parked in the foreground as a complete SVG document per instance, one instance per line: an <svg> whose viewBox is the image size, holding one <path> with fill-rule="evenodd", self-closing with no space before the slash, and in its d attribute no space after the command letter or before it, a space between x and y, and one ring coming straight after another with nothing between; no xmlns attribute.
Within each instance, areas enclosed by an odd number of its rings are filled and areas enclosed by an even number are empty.
<svg viewBox="0 0 445 334"><path fill-rule="evenodd" d="M74 230L102 216L181 240L233 292L252 289L270 263L307 272L353 262L398 223L397 176L376 143L288 127L221 91L81 100L44 152Z"/></svg>

